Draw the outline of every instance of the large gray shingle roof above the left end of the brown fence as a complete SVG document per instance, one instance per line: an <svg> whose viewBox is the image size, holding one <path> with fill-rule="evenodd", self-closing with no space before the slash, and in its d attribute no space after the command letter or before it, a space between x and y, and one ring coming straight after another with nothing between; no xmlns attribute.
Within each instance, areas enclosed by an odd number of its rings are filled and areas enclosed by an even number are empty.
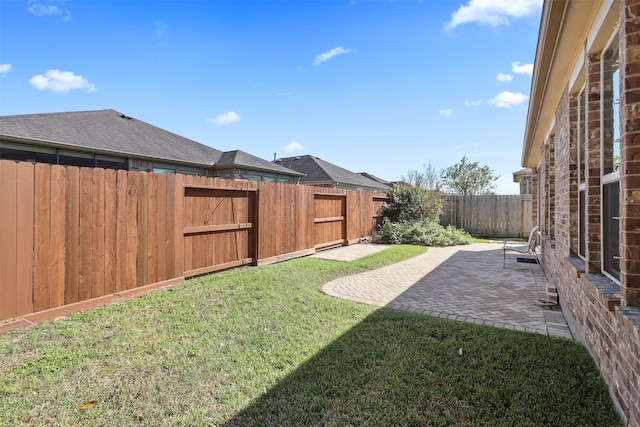
<svg viewBox="0 0 640 427"><path fill-rule="evenodd" d="M222 152L115 110L0 117L0 135L129 157L210 166Z"/></svg>

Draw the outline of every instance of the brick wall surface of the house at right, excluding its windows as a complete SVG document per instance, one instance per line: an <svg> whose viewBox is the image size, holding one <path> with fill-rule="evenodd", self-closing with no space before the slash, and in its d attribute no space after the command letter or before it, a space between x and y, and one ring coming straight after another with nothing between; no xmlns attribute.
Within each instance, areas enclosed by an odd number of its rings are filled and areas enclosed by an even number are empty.
<svg viewBox="0 0 640 427"><path fill-rule="evenodd" d="M591 2L590 2L591 4ZM596 7L608 7L604 2ZM640 426L640 0L608 3L619 22L620 48L620 279L603 274L602 148L603 129L613 129L611 109L603 111L603 45L593 37L578 39L582 56L571 66L579 77L567 80L550 124L533 150L534 216L543 238L541 264L558 292L573 334L588 348L609 385L612 399L629 426ZM591 6L590 6L591 7ZM574 9L575 10L575 9ZM594 14L595 15L595 14ZM595 22L595 20L593 21ZM603 25L591 34L609 39ZM562 37L575 37L566 34ZM574 79L574 81L570 81ZM586 93L585 114L585 256L579 251L578 93ZM546 96L546 95L545 95ZM609 93L609 97L611 97ZM533 98L533 96L532 96ZM612 156L609 156L611 158Z"/></svg>

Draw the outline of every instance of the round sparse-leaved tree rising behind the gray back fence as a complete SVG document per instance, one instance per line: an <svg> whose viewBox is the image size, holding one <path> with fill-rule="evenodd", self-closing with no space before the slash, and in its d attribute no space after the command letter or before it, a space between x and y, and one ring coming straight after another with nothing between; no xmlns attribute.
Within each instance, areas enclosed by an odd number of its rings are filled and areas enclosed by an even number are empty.
<svg viewBox="0 0 640 427"><path fill-rule="evenodd" d="M471 196L476 194L495 194L496 181L488 166L480 166L478 162L469 162L463 157L460 163L449 166L440 174L443 185L455 194Z"/></svg>

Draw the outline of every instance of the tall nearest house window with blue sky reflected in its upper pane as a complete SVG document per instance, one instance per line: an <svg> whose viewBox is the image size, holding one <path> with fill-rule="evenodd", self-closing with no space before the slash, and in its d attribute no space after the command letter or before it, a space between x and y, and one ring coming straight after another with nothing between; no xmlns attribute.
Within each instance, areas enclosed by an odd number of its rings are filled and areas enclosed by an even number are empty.
<svg viewBox="0 0 640 427"><path fill-rule="evenodd" d="M620 280L620 64L618 34L602 54L602 270Z"/></svg>

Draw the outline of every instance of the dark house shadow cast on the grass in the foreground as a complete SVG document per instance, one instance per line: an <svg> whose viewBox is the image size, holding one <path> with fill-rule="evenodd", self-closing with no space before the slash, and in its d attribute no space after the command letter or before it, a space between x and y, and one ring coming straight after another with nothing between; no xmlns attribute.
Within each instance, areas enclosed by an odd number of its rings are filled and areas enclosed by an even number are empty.
<svg viewBox="0 0 640 427"><path fill-rule="evenodd" d="M620 424L578 343L380 309L225 425Z"/></svg>

